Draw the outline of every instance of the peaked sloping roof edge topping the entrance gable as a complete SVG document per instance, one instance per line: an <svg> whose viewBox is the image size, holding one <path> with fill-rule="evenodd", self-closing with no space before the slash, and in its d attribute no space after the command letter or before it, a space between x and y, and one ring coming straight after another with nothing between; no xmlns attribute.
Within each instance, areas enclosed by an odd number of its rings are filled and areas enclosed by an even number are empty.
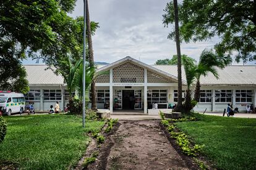
<svg viewBox="0 0 256 170"><path fill-rule="evenodd" d="M107 71L111 68L117 67L117 66L122 65L123 63L126 63L126 62L131 62L131 63L134 63L135 65L138 65L139 67L147 68L147 70L149 70L149 71L153 71L154 73L158 73L161 76L173 79L174 81L177 82L177 76L174 76L171 73L168 73L166 71L162 71L162 70L160 70L156 67L153 67L151 65L148 65L146 63L140 62L139 60L133 59L130 56L124 57L123 59L117 60L116 62L109 63L108 65L100 66L100 67L98 67L98 69L96 71L97 72ZM186 84L186 81L182 80L182 83Z"/></svg>

